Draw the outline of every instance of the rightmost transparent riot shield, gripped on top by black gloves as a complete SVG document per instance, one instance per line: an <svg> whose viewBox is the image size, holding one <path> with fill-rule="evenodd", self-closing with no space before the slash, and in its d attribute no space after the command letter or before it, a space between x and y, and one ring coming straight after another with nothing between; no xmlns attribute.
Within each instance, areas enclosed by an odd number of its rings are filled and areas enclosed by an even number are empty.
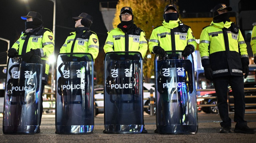
<svg viewBox="0 0 256 143"><path fill-rule="evenodd" d="M160 134L194 134L198 130L192 55L166 51L155 56L156 127Z"/></svg>

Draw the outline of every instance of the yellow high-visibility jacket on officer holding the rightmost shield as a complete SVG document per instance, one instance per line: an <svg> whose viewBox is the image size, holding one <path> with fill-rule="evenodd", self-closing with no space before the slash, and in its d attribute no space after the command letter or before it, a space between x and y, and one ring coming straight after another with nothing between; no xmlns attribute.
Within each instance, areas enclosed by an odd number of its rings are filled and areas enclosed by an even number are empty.
<svg viewBox="0 0 256 143"><path fill-rule="evenodd" d="M188 44L196 49L197 44L192 30L179 19L169 23L164 21L161 26L154 28L148 42L150 53L154 53L155 46L160 46L165 51L183 51Z"/></svg>

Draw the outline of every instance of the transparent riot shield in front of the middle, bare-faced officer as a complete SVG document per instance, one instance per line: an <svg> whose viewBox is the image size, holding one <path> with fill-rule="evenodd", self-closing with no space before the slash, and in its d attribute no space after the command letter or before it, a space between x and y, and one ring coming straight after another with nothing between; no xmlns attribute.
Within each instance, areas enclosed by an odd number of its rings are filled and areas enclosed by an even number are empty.
<svg viewBox="0 0 256 143"><path fill-rule="evenodd" d="M106 133L141 133L143 129L143 75L140 53L106 53L104 81Z"/></svg>

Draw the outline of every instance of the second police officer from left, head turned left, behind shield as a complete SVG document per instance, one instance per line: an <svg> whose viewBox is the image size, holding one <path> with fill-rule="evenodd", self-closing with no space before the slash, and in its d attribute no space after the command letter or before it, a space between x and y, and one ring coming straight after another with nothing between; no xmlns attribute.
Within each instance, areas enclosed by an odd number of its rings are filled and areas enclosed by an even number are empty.
<svg viewBox="0 0 256 143"><path fill-rule="evenodd" d="M65 43L60 49L60 53L90 53L93 59L96 59L99 53L99 40L93 31L90 31L92 25L92 16L86 13L73 18L75 32L71 32Z"/></svg>

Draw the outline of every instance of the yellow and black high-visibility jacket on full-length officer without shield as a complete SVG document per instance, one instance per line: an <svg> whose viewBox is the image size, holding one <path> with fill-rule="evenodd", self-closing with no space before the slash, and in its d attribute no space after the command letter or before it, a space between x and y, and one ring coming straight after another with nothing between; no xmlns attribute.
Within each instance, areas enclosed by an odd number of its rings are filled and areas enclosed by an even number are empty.
<svg viewBox="0 0 256 143"><path fill-rule="evenodd" d="M199 51L202 66L210 66L214 77L243 75L241 60L247 61L248 53L244 37L233 22L212 22L204 27Z"/></svg>

